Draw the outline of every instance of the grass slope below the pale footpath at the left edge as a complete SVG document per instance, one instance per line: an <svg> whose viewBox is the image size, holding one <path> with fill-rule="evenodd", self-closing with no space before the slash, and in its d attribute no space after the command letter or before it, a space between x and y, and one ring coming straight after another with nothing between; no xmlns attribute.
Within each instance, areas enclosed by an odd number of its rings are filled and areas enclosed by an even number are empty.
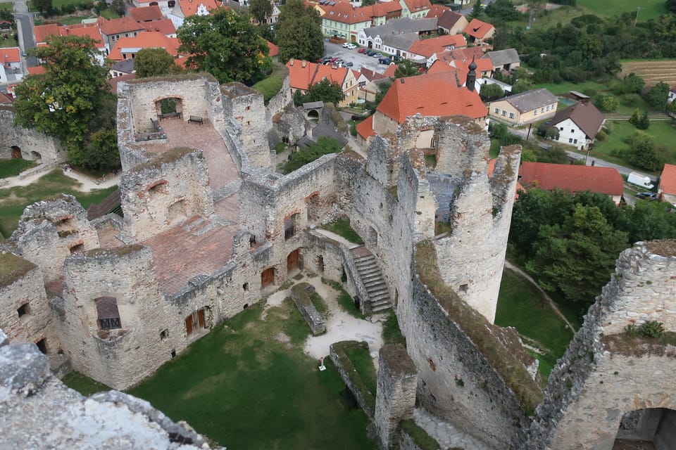
<svg viewBox="0 0 676 450"><path fill-rule="evenodd" d="M78 181L65 176L61 169L56 169L29 186L0 188L0 233L2 236L10 236L16 229L24 208L39 200L66 193L75 195L77 201L82 203L86 210L89 205L101 202L116 189L112 187L86 193L76 191L76 186L79 186Z"/></svg>

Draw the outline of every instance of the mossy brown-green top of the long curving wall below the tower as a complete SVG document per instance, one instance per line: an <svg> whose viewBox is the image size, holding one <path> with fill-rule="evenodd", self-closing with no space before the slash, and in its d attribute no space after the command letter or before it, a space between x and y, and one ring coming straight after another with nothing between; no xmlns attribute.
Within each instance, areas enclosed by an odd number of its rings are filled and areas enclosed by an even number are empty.
<svg viewBox="0 0 676 450"><path fill-rule="evenodd" d="M475 343L487 363L503 378L516 395L522 411L531 415L542 401L542 390L526 368L497 338L499 326L493 325L475 309L463 302L439 274L434 244L423 241L416 246L415 270L451 319Z"/></svg>

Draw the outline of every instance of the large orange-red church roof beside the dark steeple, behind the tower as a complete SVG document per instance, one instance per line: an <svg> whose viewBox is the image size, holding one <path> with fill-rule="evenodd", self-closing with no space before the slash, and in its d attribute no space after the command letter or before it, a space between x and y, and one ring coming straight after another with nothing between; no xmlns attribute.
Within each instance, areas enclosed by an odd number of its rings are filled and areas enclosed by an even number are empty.
<svg viewBox="0 0 676 450"><path fill-rule="evenodd" d="M465 115L472 119L488 115L477 91L458 87L456 78L447 73L394 80L377 110L400 124L406 117L418 113L425 116Z"/></svg>

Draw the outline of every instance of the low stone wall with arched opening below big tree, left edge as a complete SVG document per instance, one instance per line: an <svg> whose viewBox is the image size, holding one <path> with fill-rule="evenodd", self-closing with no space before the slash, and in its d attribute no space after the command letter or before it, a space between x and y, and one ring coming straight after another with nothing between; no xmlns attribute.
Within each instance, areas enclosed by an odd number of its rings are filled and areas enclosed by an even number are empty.
<svg viewBox="0 0 676 450"><path fill-rule="evenodd" d="M43 165L56 165L66 159L65 148L58 139L35 129L14 125L16 112L11 107L0 108L0 160L12 158L18 149L25 160L41 160Z"/></svg>

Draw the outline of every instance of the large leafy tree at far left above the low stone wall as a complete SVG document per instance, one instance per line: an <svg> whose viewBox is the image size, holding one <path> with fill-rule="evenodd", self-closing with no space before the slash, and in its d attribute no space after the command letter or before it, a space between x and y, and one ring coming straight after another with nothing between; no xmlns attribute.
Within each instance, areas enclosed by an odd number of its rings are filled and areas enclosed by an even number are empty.
<svg viewBox="0 0 676 450"><path fill-rule="evenodd" d="M73 35L51 36L47 46L30 49L45 72L16 86L16 122L61 139L69 151L80 148L108 94L108 71L96 52L93 39Z"/></svg>

